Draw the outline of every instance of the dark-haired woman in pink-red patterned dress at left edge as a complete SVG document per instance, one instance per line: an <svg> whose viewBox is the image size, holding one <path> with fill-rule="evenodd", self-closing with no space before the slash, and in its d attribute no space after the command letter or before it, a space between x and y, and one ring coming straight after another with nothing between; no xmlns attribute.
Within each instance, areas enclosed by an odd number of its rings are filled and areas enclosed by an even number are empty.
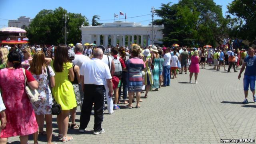
<svg viewBox="0 0 256 144"><path fill-rule="evenodd" d="M38 130L35 112L25 92L25 79L18 52L7 56L8 68L0 70L0 89L6 106L6 127L0 134L0 143L7 143L11 136L20 136L20 143L27 144L28 135ZM38 82L25 70L28 86L38 88Z"/></svg>

